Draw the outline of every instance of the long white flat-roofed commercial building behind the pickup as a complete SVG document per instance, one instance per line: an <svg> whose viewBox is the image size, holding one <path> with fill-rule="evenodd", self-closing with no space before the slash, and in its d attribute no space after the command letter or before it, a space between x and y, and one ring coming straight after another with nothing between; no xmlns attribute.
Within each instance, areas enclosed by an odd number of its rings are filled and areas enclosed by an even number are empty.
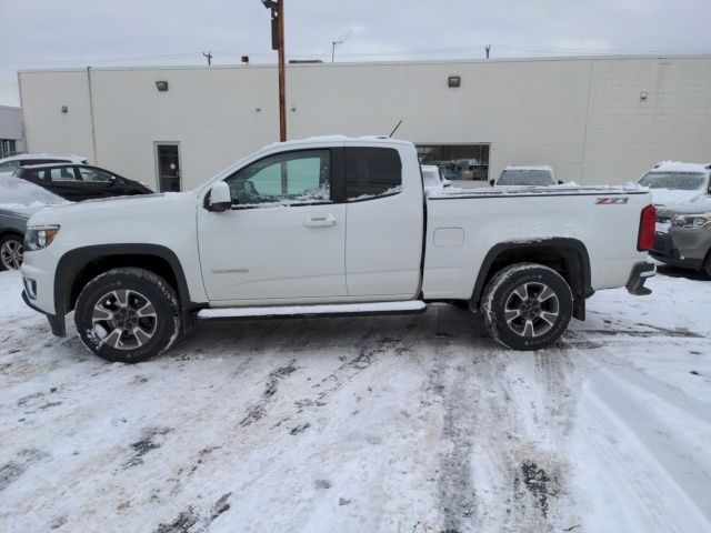
<svg viewBox="0 0 711 533"><path fill-rule="evenodd" d="M190 189L279 134L276 66L19 73L27 149ZM289 139L397 135L453 177L582 184L711 160L711 56L289 64Z"/></svg>

